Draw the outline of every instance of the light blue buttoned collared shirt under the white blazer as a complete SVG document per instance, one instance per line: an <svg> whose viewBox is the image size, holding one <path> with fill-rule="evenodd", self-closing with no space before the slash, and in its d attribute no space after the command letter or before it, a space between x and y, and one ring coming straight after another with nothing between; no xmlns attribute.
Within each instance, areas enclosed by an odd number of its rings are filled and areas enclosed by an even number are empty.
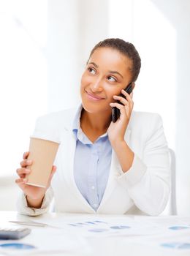
<svg viewBox="0 0 190 256"><path fill-rule="evenodd" d="M77 110L73 122L76 138L74 177L77 188L96 211L102 201L110 173L112 147L107 133L92 143L80 127L80 113Z"/></svg>

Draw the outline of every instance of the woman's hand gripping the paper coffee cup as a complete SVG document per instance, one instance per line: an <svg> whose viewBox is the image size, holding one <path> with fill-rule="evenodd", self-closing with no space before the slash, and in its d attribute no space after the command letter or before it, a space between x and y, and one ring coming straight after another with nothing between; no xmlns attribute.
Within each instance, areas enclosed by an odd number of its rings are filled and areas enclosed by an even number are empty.
<svg viewBox="0 0 190 256"><path fill-rule="evenodd" d="M23 154L23 161L20 162L20 168L17 169L17 173L19 178L15 180L16 184L23 190L24 194L26 195L26 199L28 201L28 206L36 207L42 203L42 199L45 196L45 192L50 187L50 181L53 177L53 174L56 172L56 166L53 165L50 178L47 183L47 187L35 187L26 184L28 178L26 178L26 174L31 173L29 166L32 164L31 160L28 160L29 152L25 152ZM40 207L40 206L39 206ZM38 207L36 207L38 208Z"/></svg>

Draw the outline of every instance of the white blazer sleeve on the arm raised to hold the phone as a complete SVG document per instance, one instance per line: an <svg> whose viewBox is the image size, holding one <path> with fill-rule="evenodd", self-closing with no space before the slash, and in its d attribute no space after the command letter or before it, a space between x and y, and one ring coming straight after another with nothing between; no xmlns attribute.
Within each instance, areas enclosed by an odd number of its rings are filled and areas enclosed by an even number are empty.
<svg viewBox="0 0 190 256"><path fill-rule="evenodd" d="M118 180L137 208L156 216L164 211L170 195L170 157L159 115L151 118L149 132L141 157L134 152L132 167L126 173L121 170Z"/></svg>

